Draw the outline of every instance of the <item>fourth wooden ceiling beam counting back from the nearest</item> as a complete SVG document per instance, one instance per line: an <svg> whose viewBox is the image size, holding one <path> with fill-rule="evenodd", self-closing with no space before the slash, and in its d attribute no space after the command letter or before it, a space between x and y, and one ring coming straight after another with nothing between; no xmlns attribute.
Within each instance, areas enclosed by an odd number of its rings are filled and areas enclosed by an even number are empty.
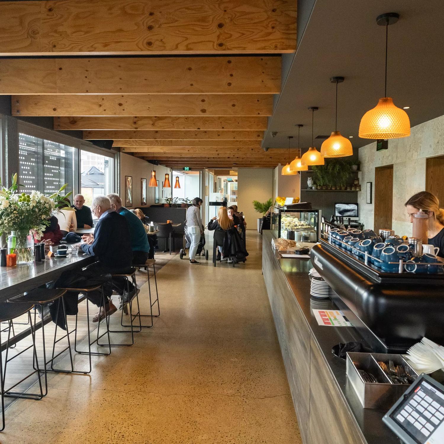
<svg viewBox="0 0 444 444"><path fill-rule="evenodd" d="M266 117L54 117L55 130L265 131Z"/></svg>

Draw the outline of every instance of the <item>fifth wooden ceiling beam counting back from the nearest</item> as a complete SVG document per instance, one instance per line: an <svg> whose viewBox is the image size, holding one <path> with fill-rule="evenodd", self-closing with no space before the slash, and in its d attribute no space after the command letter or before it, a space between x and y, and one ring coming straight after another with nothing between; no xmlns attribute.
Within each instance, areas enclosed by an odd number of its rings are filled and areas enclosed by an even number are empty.
<svg viewBox="0 0 444 444"><path fill-rule="evenodd" d="M262 140L263 131L83 131L83 139L114 140Z"/></svg>

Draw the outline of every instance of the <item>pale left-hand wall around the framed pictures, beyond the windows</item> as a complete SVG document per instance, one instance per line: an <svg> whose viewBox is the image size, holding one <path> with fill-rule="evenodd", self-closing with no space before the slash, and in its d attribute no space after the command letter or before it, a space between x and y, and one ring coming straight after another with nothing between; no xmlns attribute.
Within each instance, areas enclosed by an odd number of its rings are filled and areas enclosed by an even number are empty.
<svg viewBox="0 0 444 444"><path fill-rule="evenodd" d="M162 165L153 165L146 160L139 159L138 157L129 154L120 153L120 198L123 202L125 202L125 176L131 176L133 178L133 205L130 208L141 206L141 178L147 179L147 206L155 203L155 188L148 186L151 178L151 170L156 171L156 178L160 184L159 203L162 203L162 184L165 179L165 173L170 173L170 169ZM171 186L174 186L171 174L170 183ZM170 196L171 188L166 188L164 193L166 193L167 196Z"/></svg>

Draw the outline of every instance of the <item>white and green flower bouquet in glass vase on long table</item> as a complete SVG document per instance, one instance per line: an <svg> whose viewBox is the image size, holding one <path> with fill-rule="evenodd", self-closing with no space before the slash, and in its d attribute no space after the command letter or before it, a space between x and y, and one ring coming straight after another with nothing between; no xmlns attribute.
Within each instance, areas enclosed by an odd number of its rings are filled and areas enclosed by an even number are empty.
<svg viewBox="0 0 444 444"><path fill-rule="evenodd" d="M39 191L30 194L19 193L17 174L12 176L12 186L6 188L0 181L0 234L15 232L17 263L30 263L33 261L33 251L29 246L28 236L41 237L49 218L55 210L74 210L68 205L71 192L62 196L60 193L66 188L47 197Z"/></svg>

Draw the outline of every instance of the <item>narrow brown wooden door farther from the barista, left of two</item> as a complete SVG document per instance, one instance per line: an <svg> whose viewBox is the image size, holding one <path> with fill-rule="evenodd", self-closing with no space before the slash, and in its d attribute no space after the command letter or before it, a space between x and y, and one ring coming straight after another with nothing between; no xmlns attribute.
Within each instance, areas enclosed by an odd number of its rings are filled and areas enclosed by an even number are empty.
<svg viewBox="0 0 444 444"><path fill-rule="evenodd" d="M375 216L373 229L392 229L393 165L375 168Z"/></svg>

